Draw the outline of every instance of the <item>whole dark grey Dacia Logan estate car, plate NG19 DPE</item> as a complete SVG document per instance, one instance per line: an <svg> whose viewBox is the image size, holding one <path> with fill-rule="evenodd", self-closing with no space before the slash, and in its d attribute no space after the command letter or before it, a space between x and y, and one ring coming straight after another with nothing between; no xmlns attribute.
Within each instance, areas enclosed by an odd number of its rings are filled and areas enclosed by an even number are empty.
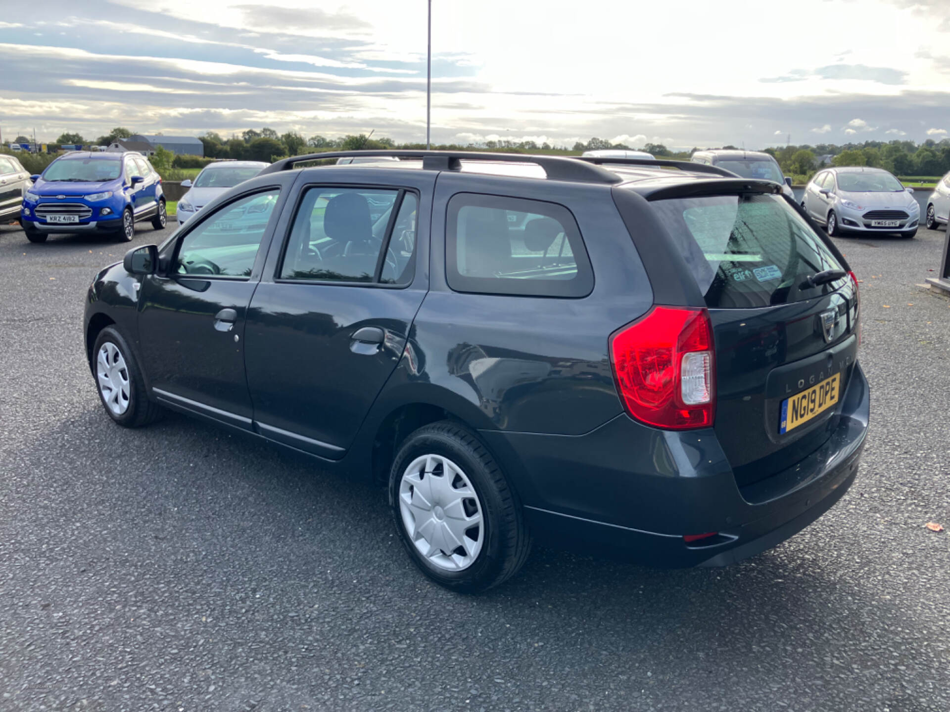
<svg viewBox="0 0 950 712"><path fill-rule="evenodd" d="M725 565L845 494L858 282L774 182L437 151L296 167L365 155L279 160L94 276L109 418L169 408L385 483L452 590L535 539Z"/></svg>

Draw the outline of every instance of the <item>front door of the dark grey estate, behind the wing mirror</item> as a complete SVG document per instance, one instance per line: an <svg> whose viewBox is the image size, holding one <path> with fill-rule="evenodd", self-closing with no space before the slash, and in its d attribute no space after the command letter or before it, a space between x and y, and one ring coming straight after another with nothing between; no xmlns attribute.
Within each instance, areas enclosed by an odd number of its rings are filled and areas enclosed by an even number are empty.
<svg viewBox="0 0 950 712"><path fill-rule="evenodd" d="M279 186L257 188L202 215L163 246L161 272L142 280L140 352L162 403L251 429L244 320L280 197Z"/></svg>

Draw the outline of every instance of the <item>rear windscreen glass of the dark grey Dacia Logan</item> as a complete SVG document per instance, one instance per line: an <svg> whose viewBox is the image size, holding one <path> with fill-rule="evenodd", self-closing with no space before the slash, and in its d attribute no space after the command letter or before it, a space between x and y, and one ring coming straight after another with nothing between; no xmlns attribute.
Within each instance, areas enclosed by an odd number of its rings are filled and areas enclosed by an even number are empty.
<svg viewBox="0 0 950 712"><path fill-rule="evenodd" d="M685 197L651 205L711 309L800 302L841 287L809 284L809 276L842 267L781 196Z"/></svg>

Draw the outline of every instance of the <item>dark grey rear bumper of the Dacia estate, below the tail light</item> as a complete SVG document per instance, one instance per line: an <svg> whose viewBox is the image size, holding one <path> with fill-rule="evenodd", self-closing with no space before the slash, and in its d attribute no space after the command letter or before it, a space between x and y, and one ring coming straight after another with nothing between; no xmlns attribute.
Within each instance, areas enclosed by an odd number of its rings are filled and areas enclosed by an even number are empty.
<svg viewBox="0 0 950 712"><path fill-rule="evenodd" d="M534 534L658 567L723 566L800 532L857 475L870 395L860 365L818 450L739 488L712 430L670 433L619 416L587 435L483 432ZM687 544L684 534L718 532Z"/></svg>

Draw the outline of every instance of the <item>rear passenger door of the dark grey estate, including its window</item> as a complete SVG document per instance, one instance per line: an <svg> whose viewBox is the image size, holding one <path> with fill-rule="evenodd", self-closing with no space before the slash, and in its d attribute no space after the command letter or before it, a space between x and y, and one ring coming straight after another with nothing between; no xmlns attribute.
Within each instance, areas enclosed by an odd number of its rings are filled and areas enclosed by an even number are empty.
<svg viewBox="0 0 950 712"><path fill-rule="evenodd" d="M352 444L426 297L436 175L345 170L360 182L302 185L245 328L259 432L328 459Z"/></svg>

